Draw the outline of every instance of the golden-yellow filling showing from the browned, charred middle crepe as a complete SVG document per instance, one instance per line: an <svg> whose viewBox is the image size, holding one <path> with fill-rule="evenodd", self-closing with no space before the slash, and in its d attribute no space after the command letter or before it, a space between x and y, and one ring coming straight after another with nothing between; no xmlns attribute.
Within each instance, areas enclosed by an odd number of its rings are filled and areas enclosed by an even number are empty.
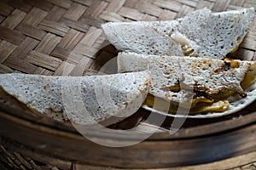
<svg viewBox="0 0 256 170"><path fill-rule="evenodd" d="M230 68L238 68L239 63L236 59L224 59L225 62L230 63ZM247 73L244 80L241 82L241 88L245 89L256 81L256 77L253 74ZM169 88L172 92L178 92L179 86L175 85L173 88ZM177 104L176 102L169 102L165 99L160 99L148 94L145 100L145 105L152 107L159 111L166 111L170 113L176 113L179 107L189 108L189 114L199 114L208 112L223 112L227 111L230 107L229 101L226 99L233 94L236 94L236 90L226 91L221 94L206 94L203 91L194 91L194 97L191 102ZM245 95L246 96L246 95Z"/></svg>

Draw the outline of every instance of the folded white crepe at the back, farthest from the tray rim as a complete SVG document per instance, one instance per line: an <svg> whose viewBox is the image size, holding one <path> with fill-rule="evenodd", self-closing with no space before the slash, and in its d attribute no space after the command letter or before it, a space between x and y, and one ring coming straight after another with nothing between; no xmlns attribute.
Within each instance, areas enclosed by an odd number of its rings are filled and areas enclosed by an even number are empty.
<svg viewBox="0 0 256 170"><path fill-rule="evenodd" d="M109 42L123 52L224 59L253 24L254 8L212 13L203 8L177 20L109 22Z"/></svg>

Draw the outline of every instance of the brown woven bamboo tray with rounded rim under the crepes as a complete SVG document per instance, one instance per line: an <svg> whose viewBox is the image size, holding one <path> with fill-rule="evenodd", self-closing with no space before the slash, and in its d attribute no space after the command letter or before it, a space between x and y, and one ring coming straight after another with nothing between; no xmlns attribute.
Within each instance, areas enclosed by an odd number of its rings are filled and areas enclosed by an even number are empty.
<svg viewBox="0 0 256 170"><path fill-rule="evenodd" d="M0 73L94 75L117 54L102 32L102 23L173 20L204 7L212 11L256 8L256 1L1 0ZM255 51L256 21L236 54L231 55L256 60ZM0 169L255 169L255 105L230 116L187 119L175 135L166 131L172 122L167 118L158 133L125 148L94 144L69 124L2 107ZM146 133L155 128L143 123L147 116L147 111L139 110L111 128L143 124L141 131ZM102 133L91 135L108 139Z"/></svg>

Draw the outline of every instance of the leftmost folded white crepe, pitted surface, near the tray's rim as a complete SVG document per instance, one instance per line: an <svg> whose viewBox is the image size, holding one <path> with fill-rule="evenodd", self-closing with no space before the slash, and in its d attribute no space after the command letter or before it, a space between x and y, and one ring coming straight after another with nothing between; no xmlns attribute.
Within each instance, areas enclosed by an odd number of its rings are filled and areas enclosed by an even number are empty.
<svg viewBox="0 0 256 170"><path fill-rule="evenodd" d="M110 125L131 116L148 94L148 71L90 76L0 75L0 88L27 108L57 121Z"/></svg>

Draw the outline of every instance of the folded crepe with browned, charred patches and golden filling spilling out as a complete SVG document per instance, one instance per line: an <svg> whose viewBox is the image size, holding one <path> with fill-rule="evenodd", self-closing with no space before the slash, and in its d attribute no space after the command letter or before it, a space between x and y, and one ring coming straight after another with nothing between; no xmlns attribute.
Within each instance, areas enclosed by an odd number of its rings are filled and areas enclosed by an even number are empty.
<svg viewBox="0 0 256 170"><path fill-rule="evenodd" d="M156 97L162 103L170 103L168 111L172 113L179 105L191 107L190 114L231 113L256 99L256 61L126 53L118 56L119 72L148 68L152 81L146 105L150 107ZM229 100L230 96L236 97ZM242 104L233 107L234 99Z"/></svg>

